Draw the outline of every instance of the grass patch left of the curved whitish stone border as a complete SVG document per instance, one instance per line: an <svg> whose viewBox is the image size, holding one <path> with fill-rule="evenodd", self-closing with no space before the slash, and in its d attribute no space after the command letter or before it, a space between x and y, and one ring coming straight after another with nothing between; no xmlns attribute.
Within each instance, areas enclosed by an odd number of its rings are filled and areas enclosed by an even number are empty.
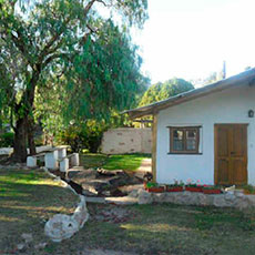
<svg viewBox="0 0 255 255"><path fill-rule="evenodd" d="M78 201L39 170L0 169L0 254L14 249L22 233L33 233L35 242L45 239L45 221L57 213L72 213Z"/></svg>

